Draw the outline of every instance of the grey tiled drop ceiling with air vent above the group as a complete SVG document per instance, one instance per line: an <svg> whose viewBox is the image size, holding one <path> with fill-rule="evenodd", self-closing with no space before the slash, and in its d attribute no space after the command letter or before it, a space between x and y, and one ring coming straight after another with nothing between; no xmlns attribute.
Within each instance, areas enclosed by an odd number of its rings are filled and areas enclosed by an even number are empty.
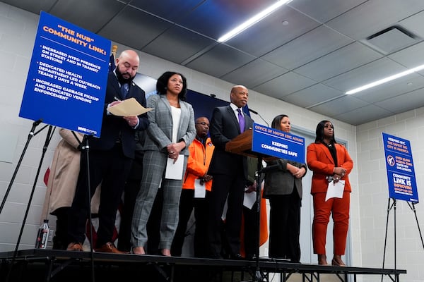
<svg viewBox="0 0 424 282"><path fill-rule="evenodd" d="M293 0L220 44L276 0L1 0L233 84L359 125L424 106L423 0Z"/></svg>

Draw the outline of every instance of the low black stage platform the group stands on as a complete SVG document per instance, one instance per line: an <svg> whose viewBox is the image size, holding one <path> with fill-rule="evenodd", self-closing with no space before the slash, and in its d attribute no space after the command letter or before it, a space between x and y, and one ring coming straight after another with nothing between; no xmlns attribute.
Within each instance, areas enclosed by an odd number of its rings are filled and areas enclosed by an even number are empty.
<svg viewBox="0 0 424 282"><path fill-rule="evenodd" d="M0 253L0 281L93 281L90 252L20 250L11 268L13 252ZM302 281L320 281L321 274L334 274L339 281L356 281L358 275L387 276L400 281L403 269L375 269L351 266L293 264L280 259L256 261L163 257L157 255L115 255L94 252L95 281L290 281L301 274ZM258 274L261 274L260 276ZM254 278L252 278L254 277ZM261 277L260 279L257 277Z"/></svg>

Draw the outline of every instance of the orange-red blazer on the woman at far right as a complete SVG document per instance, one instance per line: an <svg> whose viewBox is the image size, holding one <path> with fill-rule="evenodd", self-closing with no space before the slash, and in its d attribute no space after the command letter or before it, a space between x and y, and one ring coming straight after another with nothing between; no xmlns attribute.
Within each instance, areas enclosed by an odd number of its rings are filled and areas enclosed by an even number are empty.
<svg viewBox="0 0 424 282"><path fill-rule="evenodd" d="M345 191L352 192L349 182L349 173L353 168L353 161L349 156L348 150L341 144L335 144L338 166L346 168L346 174L341 178L345 180ZM312 143L307 147L306 154L307 167L313 171L311 194L317 192L326 192L329 185L326 176L333 175L335 167L333 157L326 145L322 143Z"/></svg>

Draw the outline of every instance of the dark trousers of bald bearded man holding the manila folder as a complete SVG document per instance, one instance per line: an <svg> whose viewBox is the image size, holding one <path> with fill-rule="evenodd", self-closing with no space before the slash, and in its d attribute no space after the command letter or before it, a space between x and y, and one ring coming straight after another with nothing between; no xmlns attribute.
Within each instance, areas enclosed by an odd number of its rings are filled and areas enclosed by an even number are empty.
<svg viewBox="0 0 424 282"><path fill-rule="evenodd" d="M88 197L93 197L95 189L102 183L99 207L99 227L97 246L112 240L114 222L126 178L132 159L124 156L120 144L109 151L90 151L89 160L86 153L81 153L81 168L76 185L75 197L69 211L68 241L83 243L85 239L86 220L90 212ZM88 171L90 170L90 195L88 195Z"/></svg>

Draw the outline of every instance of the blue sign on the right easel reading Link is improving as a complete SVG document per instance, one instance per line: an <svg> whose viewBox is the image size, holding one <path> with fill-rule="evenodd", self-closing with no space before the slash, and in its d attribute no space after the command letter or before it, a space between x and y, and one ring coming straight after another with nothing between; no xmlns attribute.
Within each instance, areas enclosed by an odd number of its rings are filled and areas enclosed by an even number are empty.
<svg viewBox="0 0 424 282"><path fill-rule="evenodd" d="M411 144L408 140L382 133L386 157L389 197L418 203L418 191Z"/></svg>

